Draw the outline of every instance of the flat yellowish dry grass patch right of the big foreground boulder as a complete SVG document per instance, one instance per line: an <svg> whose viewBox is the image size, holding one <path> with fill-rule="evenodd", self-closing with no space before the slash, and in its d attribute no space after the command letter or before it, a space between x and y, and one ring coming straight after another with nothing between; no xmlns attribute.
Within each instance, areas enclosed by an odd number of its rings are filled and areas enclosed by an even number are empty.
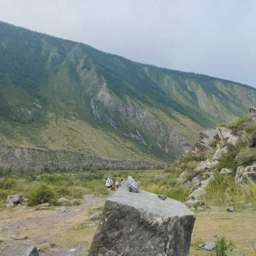
<svg viewBox="0 0 256 256"><path fill-rule="evenodd" d="M215 211L216 209L212 210ZM224 236L228 241L233 241L235 248L231 255L254 256L252 248L256 242L256 212L252 209L244 212L225 212L216 214L197 214L196 223L191 240L191 255L211 255L214 252L207 252L197 246L197 241L215 241L214 236Z"/></svg>

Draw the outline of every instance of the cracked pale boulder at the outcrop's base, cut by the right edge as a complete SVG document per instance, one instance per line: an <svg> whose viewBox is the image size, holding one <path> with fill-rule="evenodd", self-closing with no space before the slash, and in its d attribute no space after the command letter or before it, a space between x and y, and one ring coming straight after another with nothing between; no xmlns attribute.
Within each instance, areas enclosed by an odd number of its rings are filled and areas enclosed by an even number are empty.
<svg viewBox="0 0 256 256"><path fill-rule="evenodd" d="M236 173L238 183L256 185L256 165L239 166Z"/></svg>

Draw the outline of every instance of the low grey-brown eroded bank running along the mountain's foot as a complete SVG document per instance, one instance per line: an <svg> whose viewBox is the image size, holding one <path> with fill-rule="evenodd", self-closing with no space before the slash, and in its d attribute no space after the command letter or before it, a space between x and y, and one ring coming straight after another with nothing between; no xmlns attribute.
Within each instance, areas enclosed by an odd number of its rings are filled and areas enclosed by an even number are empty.
<svg viewBox="0 0 256 256"><path fill-rule="evenodd" d="M163 163L147 160L117 160L69 150L43 150L38 148L4 146L0 144L0 167L44 172L47 169L154 169Z"/></svg>

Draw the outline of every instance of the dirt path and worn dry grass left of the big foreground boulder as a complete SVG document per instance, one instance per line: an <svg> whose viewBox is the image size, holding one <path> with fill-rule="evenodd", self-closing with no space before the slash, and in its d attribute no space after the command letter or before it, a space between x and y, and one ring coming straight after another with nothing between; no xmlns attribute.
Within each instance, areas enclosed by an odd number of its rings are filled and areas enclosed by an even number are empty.
<svg viewBox="0 0 256 256"><path fill-rule="evenodd" d="M32 245L41 248L40 255L86 255L97 225L80 229L79 224L103 203L103 198L87 195L68 212L23 206L0 212L0 256L24 255Z"/></svg>

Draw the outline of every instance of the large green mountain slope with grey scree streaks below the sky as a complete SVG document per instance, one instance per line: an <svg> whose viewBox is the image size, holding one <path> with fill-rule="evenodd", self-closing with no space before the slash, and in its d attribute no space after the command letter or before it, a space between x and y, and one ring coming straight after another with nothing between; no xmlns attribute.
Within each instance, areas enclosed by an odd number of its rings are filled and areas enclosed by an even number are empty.
<svg viewBox="0 0 256 256"><path fill-rule="evenodd" d="M173 160L244 115L256 90L133 62L0 23L0 140L117 159Z"/></svg>

